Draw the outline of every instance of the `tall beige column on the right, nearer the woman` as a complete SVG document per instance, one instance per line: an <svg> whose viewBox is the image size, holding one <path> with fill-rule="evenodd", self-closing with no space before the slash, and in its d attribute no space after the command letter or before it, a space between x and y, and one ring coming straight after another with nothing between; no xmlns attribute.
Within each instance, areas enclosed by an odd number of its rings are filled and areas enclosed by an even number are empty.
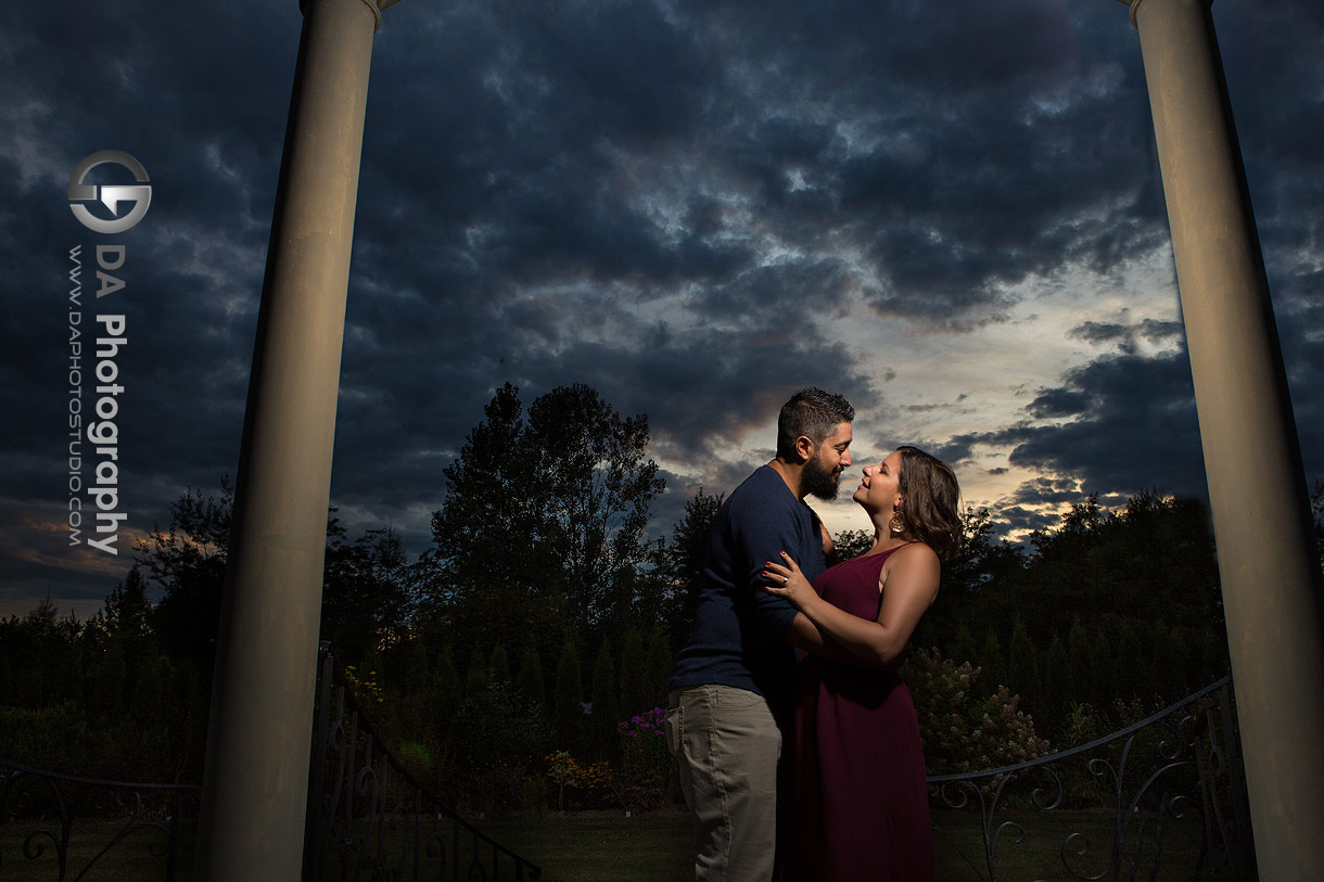
<svg viewBox="0 0 1324 882"><path fill-rule="evenodd" d="M1123 0L1125 1L1125 0ZM1205 450L1259 877L1324 867L1305 475L1210 0L1135 0Z"/></svg>

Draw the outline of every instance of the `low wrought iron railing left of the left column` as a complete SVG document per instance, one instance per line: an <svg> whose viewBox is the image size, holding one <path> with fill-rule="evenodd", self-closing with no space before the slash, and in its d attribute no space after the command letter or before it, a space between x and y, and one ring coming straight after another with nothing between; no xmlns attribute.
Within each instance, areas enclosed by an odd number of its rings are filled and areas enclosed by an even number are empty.
<svg viewBox="0 0 1324 882"><path fill-rule="evenodd" d="M131 862L135 878L180 878L181 829L197 820L201 789L191 784L130 784L60 775L0 760L0 807L7 821L0 878L106 878L113 862ZM75 845L77 844L77 845ZM184 863L184 873L192 867ZM159 874L156 873L159 869Z"/></svg>

